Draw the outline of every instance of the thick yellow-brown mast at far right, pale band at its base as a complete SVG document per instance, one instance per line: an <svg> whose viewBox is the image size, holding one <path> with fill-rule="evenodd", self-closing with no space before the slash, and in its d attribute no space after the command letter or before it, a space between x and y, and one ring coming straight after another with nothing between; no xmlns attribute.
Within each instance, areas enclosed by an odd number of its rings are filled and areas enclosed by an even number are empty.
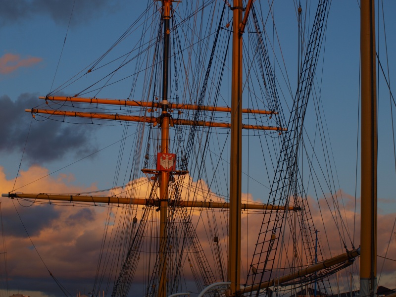
<svg viewBox="0 0 396 297"><path fill-rule="evenodd" d="M360 296L377 295L377 98L374 0L361 0Z"/></svg>

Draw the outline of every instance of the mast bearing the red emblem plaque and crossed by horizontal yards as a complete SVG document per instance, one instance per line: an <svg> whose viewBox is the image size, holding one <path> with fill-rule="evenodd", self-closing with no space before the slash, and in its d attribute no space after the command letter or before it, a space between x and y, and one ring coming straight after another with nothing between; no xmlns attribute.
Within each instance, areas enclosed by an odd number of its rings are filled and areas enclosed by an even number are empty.
<svg viewBox="0 0 396 297"><path fill-rule="evenodd" d="M162 64L162 122L161 122L161 152L169 152L169 113L168 113L168 73L169 73L169 23L170 23L170 5L171 0L162 1L164 35L163 35L163 64ZM159 198L160 198L160 220L159 220L159 238L160 238L160 276L158 285L158 297L166 297L167 274L166 274L166 242L167 230L166 223L168 220L168 184L169 172L160 172Z"/></svg>

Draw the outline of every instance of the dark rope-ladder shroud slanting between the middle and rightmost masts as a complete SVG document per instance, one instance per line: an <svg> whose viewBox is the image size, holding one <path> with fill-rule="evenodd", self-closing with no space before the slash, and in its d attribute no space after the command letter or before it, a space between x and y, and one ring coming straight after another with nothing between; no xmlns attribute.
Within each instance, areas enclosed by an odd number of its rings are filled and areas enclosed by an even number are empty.
<svg viewBox="0 0 396 297"><path fill-rule="evenodd" d="M268 201L269 203L274 203L274 204L276 203L277 205L281 205L281 204L288 205L289 197L291 195L294 196L296 202L296 198L298 197L297 194L304 193L304 190L302 189L300 190L301 193L295 193L297 189L295 190L294 188L294 187L302 188L302 185L299 185L297 183L297 180L294 180L295 178L297 179L297 177L299 176L299 171L297 167L297 152L298 152L298 145L301 140L301 134L302 134L301 127L304 120L305 109L307 106L306 104L309 98L312 80L315 73L315 64L318 57L318 49L320 48L320 44L321 44L320 38L321 38L323 24L326 19L326 8L327 8L327 1L321 1L318 4L316 16L315 16L314 28L312 30L312 33L310 34L308 49L306 51L303 68L301 69L301 73L300 73L300 81L302 86L297 90L294 107L288 124L288 131L285 133L283 137L284 138L284 144L282 148L283 153L279 159L278 168L276 170L277 175L274 178L273 189L270 193L271 196ZM278 196L280 198L278 198ZM274 218L273 215L275 216ZM279 234L279 236L275 236L275 238L272 238L273 232L275 232L277 228L281 228L283 226L283 221L286 215L287 215L286 213L285 214L269 213L268 215L267 214L265 215L261 227L262 230L260 231L254 252L255 255L256 254L258 255L257 256L258 260L256 260L258 262L254 262L255 257L253 256L252 259L253 266L257 266L257 264L261 263L262 265L264 265L262 269L263 271L265 271L266 269L268 269L266 266L268 261L270 261L273 267L275 263L275 255L277 253L278 241L281 238L281 234ZM301 223L303 223L303 221L301 221ZM273 232L271 231L271 229L273 230ZM283 246L283 238L284 236L282 237L281 247ZM267 245L265 245L265 243L267 243ZM268 246L268 248L264 249L264 247L266 246ZM272 250L275 251L271 259L269 259L269 255ZM312 254L310 247L306 249L306 252L309 253L309 258L311 258ZM262 255L264 259L261 259ZM278 257L278 261L280 261L280 259L281 257ZM255 282L256 274L249 273L249 275L251 277L251 283L252 284L256 283ZM270 271L269 276L266 275L266 278L268 277L271 278L271 275L272 272ZM264 273L261 273L260 278L258 279L258 283L263 282L264 281L263 278L264 278Z"/></svg>

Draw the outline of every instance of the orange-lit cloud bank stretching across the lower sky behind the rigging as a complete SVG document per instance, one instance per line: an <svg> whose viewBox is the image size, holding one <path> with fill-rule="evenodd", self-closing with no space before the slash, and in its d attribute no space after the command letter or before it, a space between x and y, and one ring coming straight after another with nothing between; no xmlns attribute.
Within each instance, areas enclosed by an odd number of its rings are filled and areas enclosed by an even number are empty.
<svg viewBox="0 0 396 297"><path fill-rule="evenodd" d="M16 187L27 184L33 177L45 176L47 173L47 169L40 166L33 166L29 168L29 170L21 172ZM72 181L73 176L71 175L46 177L45 179L29 185L24 189L24 192L81 193L96 190L95 185L89 188L81 188L74 186ZM193 183L192 185L195 186L197 184L198 183ZM207 196L208 188L202 181L200 181L199 184L201 185L201 191L194 192L194 195L197 195L198 199L201 199L203 196ZM139 185L135 192L136 197L145 196L149 188L148 184L143 183L143 179L141 179L136 181L136 185ZM8 192L12 186L13 181L6 179L1 168L1 192ZM183 188L182 196L186 197L189 195L191 195L191 193L189 193L188 189ZM339 193L339 196L340 195L341 192ZM358 226L360 223L360 216L359 214L356 214L355 216L354 198L345 193L343 193L343 197L345 205L345 211L343 210L343 214L345 216L344 220L346 222L345 225L348 225L348 232L351 233L351 230L353 230L351 229L353 228L353 220L355 220L356 226ZM212 196L211 198L216 200L216 197ZM243 195L243 199L252 201L252 198L247 195ZM336 240L340 237L338 228L335 227L335 225L337 225L337 219L334 219L334 213L332 215L329 211L325 210L325 206L327 205L325 198L319 199L319 203L313 199L310 200L311 213L313 215L313 220L316 223L315 227L319 229L320 244L323 252L325 252L324 258L328 258L330 256L328 245L332 250L331 256L345 252L340 241ZM96 269L98 267L103 230L105 222L109 219L109 208L98 206L78 207L77 204L69 207L60 207L48 204L31 205L32 203L28 201L16 201L7 198L3 198L1 202L4 236L7 244L8 276L11 284L10 288L36 291L46 288L45 294L54 296L60 295L58 287L50 278L49 272L37 256L32 243L26 236L26 233L24 233L25 231L23 227L21 227L20 220L15 211L15 204L34 245L38 248L51 273L53 273L53 275L67 288L67 290L69 290L71 294L75 294L75 292L78 291L85 291L85 293L91 291ZM52 203L53 202L54 201L52 201ZM71 205L68 202L66 204ZM358 201L357 209L359 209ZM122 211L122 209L118 207L112 209L112 215L110 215L110 217L111 221L114 221L114 224L109 225L108 235L115 230L118 230L118 232L121 233L124 232L122 228L115 229L117 226L116 219L124 220L123 215L120 215L120 213L117 214L118 211ZM137 217L139 222L142 211L142 208L138 207ZM158 212L153 211L154 217L150 218L150 220L157 222L158 218L155 218L155 216L158 216L158 214ZM242 228L244 230L242 233L242 258L244 259L242 270L245 271L244 273L246 273L250 264L249 260L246 261L245 259L254 251L257 234L261 227L262 217L262 213L258 211L254 215L249 216L248 221L247 211L244 211L242 215ZM224 252L226 250L226 246L228 244L227 231L226 229L222 229L221 226L224 228L226 225L225 222L228 218L227 211L195 209L191 213L191 218L192 224L194 226L197 225L196 233L204 250L213 250L214 233L216 233L219 238L219 244L222 247L222 251ZM203 219L209 220L210 225L198 224L198 222ZM396 257L395 248L391 246L388 249L389 237L394 220L395 214L380 214L378 216L378 254L383 256L386 254L386 256L391 259L395 259ZM323 222L323 224L321 222ZM340 222L340 220L338 220L338 222ZM11 230L11 232L9 230ZM343 233L342 236L344 236ZM345 238L348 238L348 236ZM358 245L359 242L359 229L356 228L354 244ZM393 241L391 241L391 244L392 242ZM348 248L350 248L350 243L347 243L347 245ZM141 254L141 256L143 257L143 254ZM211 253L206 253L206 256L211 265L217 261ZM223 255L223 263L225 263L225 259L226 254ZM144 261L141 260L138 263L138 271L145 270L143 267L145 263L143 262ZM355 261L354 265L357 265L357 263L358 261ZM384 265L384 269L381 269L381 265L382 260L378 259L378 278L380 271L382 270L380 285L392 288L392 284L394 283L393 273L396 265L394 264L394 261L390 260L387 260ZM242 273L242 275L244 275L244 273ZM189 271L186 271L184 273L184 277L186 277L186 279L192 279L192 274L189 273ZM219 275L216 277L219 278ZM348 278L348 275L346 278ZM134 279L135 284L143 281L143 273L137 274ZM345 283L348 283L348 281L345 281ZM345 287L344 290L346 289L347 288ZM106 294L108 293L109 292L106 292Z"/></svg>

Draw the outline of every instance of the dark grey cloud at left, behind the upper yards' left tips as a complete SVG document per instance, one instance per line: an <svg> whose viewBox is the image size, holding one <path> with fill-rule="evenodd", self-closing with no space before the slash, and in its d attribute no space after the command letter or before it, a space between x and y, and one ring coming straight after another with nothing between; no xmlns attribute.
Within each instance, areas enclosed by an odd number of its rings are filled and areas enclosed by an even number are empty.
<svg viewBox="0 0 396 297"><path fill-rule="evenodd" d="M0 151L23 151L32 119L25 108L32 108L38 103L42 102L36 94L22 94L16 101L8 96L0 97ZM42 164L70 153L73 156L86 156L97 149L93 145L94 128L98 126L33 120L24 158L29 164Z"/></svg>

